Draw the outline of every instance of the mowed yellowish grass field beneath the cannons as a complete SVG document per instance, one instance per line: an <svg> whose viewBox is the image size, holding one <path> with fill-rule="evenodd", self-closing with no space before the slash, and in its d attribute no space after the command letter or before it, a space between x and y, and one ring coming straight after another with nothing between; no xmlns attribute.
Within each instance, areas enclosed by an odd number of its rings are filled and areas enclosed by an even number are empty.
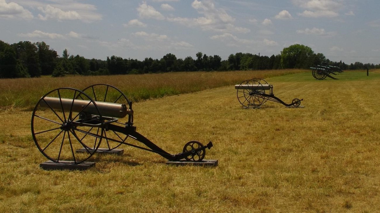
<svg viewBox="0 0 380 213"><path fill-rule="evenodd" d="M253 78L255 76L252 76ZM2 212L379 212L380 72L270 77L285 102L244 109L233 86L134 103L137 131L170 153L214 143L215 168L168 166L122 145L87 171L44 171L30 111L0 112ZM135 143L132 139L128 142ZM138 143L136 143L138 144Z"/></svg>

